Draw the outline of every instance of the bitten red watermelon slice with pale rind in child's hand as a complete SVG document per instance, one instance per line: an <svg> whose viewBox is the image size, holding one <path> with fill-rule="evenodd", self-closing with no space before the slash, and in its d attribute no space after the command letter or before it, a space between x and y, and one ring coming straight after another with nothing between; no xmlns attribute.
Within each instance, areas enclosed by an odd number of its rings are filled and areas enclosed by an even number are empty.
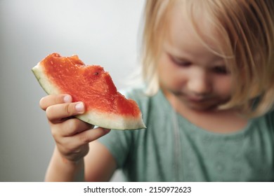
<svg viewBox="0 0 274 196"><path fill-rule="evenodd" d="M110 74L102 66L86 65L77 55L48 55L32 68L48 94L70 94L73 102L84 102L80 120L115 130L145 128L138 105L117 92Z"/></svg>

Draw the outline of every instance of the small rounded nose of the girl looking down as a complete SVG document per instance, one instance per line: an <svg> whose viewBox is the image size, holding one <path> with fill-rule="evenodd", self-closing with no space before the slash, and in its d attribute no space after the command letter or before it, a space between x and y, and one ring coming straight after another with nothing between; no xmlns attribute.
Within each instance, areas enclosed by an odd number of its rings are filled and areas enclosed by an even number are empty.
<svg viewBox="0 0 274 196"><path fill-rule="evenodd" d="M195 96L203 96L211 92L211 82L206 71L197 71L189 76L188 91Z"/></svg>

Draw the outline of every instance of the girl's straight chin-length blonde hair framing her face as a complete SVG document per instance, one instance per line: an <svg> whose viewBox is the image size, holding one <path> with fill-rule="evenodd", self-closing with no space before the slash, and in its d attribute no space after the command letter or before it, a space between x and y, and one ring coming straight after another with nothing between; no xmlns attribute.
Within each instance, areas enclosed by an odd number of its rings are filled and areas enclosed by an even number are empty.
<svg viewBox="0 0 274 196"><path fill-rule="evenodd" d="M149 0L145 5L143 29L143 79L148 94L159 90L157 62L169 16L176 3L183 3L194 29L197 8L209 16L208 22L220 39L224 57L233 78L233 92L222 109L237 107L247 116L261 116L274 105L274 1L273 0ZM199 10L200 11L200 10ZM202 43L204 35L196 31ZM215 52L212 50L212 52Z"/></svg>

